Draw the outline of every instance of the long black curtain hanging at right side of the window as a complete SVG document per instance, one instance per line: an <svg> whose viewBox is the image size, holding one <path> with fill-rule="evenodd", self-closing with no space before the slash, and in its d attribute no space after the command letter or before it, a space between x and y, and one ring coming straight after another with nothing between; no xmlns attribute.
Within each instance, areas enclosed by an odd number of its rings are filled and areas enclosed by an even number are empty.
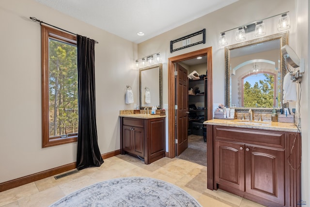
<svg viewBox="0 0 310 207"><path fill-rule="evenodd" d="M77 169L99 167L95 100L95 41L77 35L78 48L78 155Z"/></svg>

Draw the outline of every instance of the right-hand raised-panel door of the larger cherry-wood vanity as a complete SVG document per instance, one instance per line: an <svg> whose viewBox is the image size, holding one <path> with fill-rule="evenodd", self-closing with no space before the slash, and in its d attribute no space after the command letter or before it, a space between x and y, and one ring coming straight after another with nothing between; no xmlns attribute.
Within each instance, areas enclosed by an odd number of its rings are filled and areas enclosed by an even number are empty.
<svg viewBox="0 0 310 207"><path fill-rule="evenodd" d="M246 146L246 192L284 205L284 151Z"/></svg>

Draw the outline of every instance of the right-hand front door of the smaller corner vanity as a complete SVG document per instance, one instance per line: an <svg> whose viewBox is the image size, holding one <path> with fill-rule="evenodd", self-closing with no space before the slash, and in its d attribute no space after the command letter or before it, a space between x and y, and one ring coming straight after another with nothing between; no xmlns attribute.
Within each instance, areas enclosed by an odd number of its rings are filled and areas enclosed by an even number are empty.
<svg viewBox="0 0 310 207"><path fill-rule="evenodd" d="M132 139L133 153L144 157L144 130L142 127L133 127Z"/></svg>

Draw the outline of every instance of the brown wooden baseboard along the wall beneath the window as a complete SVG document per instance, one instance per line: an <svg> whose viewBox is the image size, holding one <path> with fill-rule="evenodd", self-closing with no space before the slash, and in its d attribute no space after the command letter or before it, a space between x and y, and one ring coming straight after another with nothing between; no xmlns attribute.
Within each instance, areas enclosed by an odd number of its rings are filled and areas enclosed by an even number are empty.
<svg viewBox="0 0 310 207"><path fill-rule="evenodd" d="M119 154L121 154L121 150L115 150L109 153L102 154L101 157L102 159L107 159L107 158L110 158L110 157L113 157ZM9 180L9 181L0 183L0 192L6 191L12 188L16 188L18 186L22 186L22 185L25 185L25 184L28 184L28 183L31 183L37 180L41 180L43 178L47 178L53 175L64 173L66 171L73 170L76 167L77 167L77 162L72 162L72 163L65 164L59 167L55 167L55 168L52 168L46 171L42 171L42 172L35 173L32 175L26 175L23 177L16 178L14 180Z"/></svg>

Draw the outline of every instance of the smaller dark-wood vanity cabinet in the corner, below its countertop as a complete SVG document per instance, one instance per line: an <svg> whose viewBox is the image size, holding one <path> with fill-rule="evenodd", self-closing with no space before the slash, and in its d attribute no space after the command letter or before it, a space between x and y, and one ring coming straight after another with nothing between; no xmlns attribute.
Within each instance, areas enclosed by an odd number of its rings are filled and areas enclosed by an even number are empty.
<svg viewBox="0 0 310 207"><path fill-rule="evenodd" d="M165 117L121 117L121 154L139 156L145 164L165 157L165 126Z"/></svg>

